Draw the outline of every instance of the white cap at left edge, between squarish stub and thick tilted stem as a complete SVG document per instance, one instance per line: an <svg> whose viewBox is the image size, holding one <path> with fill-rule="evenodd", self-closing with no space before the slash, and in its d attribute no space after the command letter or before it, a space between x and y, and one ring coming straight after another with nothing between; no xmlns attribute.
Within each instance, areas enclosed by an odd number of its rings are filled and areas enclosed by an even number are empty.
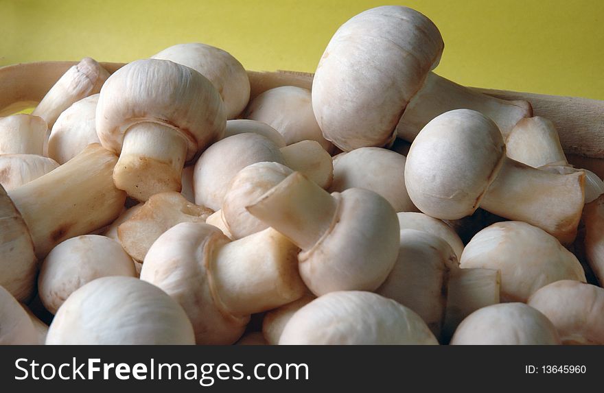
<svg viewBox="0 0 604 393"><path fill-rule="evenodd" d="M2 154L0 155L0 184L6 191L10 191L49 173L58 166L52 158L36 154Z"/></svg>

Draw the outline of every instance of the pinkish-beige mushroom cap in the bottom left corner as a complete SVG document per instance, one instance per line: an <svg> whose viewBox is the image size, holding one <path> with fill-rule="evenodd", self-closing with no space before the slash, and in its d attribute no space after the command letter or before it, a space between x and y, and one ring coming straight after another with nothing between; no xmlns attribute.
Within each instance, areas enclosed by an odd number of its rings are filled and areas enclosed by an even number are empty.
<svg viewBox="0 0 604 393"><path fill-rule="evenodd" d="M27 311L0 286L0 345L39 344L38 332Z"/></svg>

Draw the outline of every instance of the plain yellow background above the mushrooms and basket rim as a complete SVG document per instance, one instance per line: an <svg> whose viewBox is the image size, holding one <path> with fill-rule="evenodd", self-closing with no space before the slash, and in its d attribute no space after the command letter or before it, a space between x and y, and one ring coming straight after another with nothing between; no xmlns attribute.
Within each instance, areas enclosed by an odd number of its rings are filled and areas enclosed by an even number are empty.
<svg viewBox="0 0 604 393"><path fill-rule="evenodd" d="M246 69L314 71L338 26L384 1L0 0L0 66L145 58L176 43ZM406 0L441 30L437 72L471 86L604 99L603 0Z"/></svg>

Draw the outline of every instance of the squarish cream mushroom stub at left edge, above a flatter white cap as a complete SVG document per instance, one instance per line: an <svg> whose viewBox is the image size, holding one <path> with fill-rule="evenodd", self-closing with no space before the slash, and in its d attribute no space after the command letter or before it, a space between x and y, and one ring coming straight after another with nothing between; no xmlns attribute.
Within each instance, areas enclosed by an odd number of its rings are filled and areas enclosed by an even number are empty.
<svg viewBox="0 0 604 393"><path fill-rule="evenodd" d="M20 113L0 117L0 154L36 154L44 152L46 121Z"/></svg>

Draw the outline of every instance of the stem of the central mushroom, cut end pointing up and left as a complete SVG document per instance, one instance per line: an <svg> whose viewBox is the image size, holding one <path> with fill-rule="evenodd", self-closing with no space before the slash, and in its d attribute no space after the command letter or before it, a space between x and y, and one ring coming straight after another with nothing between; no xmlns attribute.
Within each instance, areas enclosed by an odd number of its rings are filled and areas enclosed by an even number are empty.
<svg viewBox="0 0 604 393"><path fill-rule="evenodd" d="M310 250L332 226L338 200L294 172L246 209L302 250Z"/></svg>

